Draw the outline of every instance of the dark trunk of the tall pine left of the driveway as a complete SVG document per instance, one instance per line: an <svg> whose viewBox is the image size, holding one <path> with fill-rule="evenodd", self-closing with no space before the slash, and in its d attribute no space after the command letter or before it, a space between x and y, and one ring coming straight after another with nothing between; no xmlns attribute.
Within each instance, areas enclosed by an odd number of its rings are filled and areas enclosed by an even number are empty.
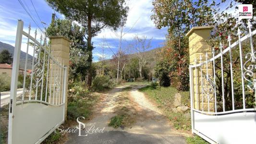
<svg viewBox="0 0 256 144"><path fill-rule="evenodd" d="M87 81L86 81L86 87L90 87L92 85L92 27L91 27L92 19L91 16L88 16L88 37L87 37L87 51L89 52L89 57L87 62L89 63L89 70L87 73Z"/></svg>

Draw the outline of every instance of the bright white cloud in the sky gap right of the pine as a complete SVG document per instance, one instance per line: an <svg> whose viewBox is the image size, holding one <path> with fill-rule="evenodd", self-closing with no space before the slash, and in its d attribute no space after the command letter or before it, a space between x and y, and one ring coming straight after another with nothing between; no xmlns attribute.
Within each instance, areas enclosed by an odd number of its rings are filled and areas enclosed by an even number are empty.
<svg viewBox="0 0 256 144"><path fill-rule="evenodd" d="M131 40L134 35L145 35L148 38L165 39L165 33L163 33L162 36L155 35L159 30L155 28L155 24L150 18L153 14L153 12L151 12L153 9L152 0L129 0L127 5L129 6L129 12L123 32L125 33L132 29L123 37L124 39ZM106 38L119 38L115 33L120 34L120 31L113 32L106 28L102 30L96 38L103 36Z"/></svg>

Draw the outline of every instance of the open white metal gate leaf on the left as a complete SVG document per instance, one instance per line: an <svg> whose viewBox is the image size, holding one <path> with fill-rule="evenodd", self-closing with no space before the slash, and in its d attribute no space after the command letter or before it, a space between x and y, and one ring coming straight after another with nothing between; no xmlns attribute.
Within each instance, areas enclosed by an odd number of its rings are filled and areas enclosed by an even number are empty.
<svg viewBox="0 0 256 144"><path fill-rule="evenodd" d="M65 120L66 66L53 59L46 38L30 36L18 21L12 65L8 144L41 143ZM17 97L21 44L27 37L23 95ZM43 42L43 43L42 43ZM31 74L27 72L28 52L32 49Z"/></svg>

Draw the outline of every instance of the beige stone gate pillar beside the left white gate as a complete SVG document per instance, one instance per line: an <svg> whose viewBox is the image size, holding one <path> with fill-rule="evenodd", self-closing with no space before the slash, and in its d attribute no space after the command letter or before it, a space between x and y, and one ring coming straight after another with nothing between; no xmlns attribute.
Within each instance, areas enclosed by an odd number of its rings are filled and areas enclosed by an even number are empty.
<svg viewBox="0 0 256 144"><path fill-rule="evenodd" d="M66 79L64 86L65 92L64 99L65 100L65 119L67 117L67 102L68 102L68 72L69 72L69 51L70 51L70 42L71 40L64 36L49 36L51 40L51 54L54 60L64 64L66 73L63 75ZM54 64L51 64L50 69L54 67ZM53 68L54 71L54 68Z"/></svg>

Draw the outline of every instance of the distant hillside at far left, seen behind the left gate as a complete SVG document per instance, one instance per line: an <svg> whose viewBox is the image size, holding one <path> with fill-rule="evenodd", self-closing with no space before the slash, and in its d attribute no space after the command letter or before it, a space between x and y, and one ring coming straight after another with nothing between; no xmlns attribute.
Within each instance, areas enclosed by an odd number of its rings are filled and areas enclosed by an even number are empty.
<svg viewBox="0 0 256 144"><path fill-rule="evenodd" d="M12 54L12 57L13 57L14 47L12 45L0 42L0 52L3 49L7 49ZM32 59L33 59L33 56L28 54L28 56L27 56L27 69L32 69ZM25 60L26 60L26 53L21 51L20 68L22 68L22 69L25 68Z"/></svg>

